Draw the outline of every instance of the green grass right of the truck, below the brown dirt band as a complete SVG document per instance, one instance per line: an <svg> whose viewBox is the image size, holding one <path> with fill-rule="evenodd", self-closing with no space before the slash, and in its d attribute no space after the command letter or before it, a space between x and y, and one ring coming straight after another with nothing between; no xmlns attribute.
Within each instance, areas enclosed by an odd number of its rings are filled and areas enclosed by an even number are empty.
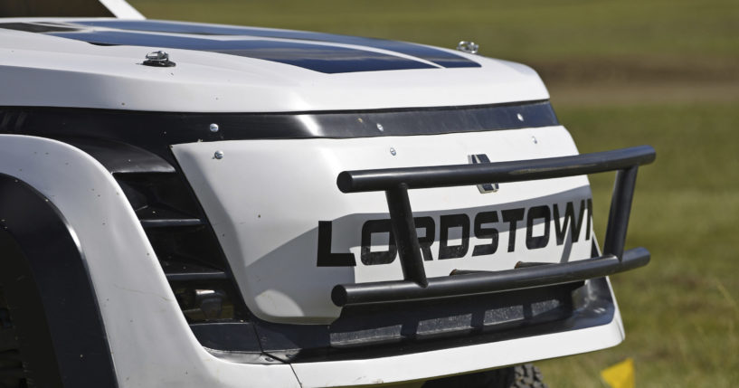
<svg viewBox="0 0 739 388"><path fill-rule="evenodd" d="M541 363L552 387L601 386L599 372L634 359L640 387L730 387L739 381L739 111L735 103L559 109L581 152L650 144L629 247L648 267L612 277L626 341ZM612 176L593 176L604 231ZM598 201L600 200L600 201Z"/></svg>

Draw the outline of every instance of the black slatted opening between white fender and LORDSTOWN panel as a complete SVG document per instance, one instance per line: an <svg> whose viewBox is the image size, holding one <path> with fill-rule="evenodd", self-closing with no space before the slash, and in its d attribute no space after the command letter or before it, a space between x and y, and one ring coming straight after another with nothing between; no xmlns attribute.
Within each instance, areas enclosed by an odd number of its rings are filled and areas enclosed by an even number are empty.
<svg viewBox="0 0 739 388"><path fill-rule="evenodd" d="M221 246L184 176L177 171L114 176L201 345L261 352Z"/></svg>

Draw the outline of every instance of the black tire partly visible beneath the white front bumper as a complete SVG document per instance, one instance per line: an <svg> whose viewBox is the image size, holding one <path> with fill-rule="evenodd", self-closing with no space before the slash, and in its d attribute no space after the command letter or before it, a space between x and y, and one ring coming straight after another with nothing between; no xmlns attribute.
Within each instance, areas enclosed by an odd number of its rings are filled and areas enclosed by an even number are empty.
<svg viewBox="0 0 739 388"><path fill-rule="evenodd" d="M533 364L523 364L476 374L431 380L423 388L546 388L544 376Z"/></svg>

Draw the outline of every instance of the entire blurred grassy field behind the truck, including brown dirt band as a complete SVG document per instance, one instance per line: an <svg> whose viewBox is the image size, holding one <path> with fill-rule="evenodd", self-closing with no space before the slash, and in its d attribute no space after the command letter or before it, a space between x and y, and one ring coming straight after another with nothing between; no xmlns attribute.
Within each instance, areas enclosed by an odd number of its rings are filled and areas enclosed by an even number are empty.
<svg viewBox="0 0 739 388"><path fill-rule="evenodd" d="M739 3L137 0L152 18L350 33L526 62L581 151L650 144L630 247L649 267L612 278L627 331L612 349L539 363L553 388L600 387L626 357L640 387L739 382ZM592 180L604 231L611 176ZM601 199L600 201L598 201Z"/></svg>

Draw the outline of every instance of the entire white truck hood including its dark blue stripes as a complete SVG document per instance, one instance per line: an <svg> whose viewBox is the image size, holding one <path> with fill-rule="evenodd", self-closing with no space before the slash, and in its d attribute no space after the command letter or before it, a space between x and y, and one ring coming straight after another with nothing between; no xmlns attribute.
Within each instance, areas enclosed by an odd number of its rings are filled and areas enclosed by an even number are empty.
<svg viewBox="0 0 739 388"><path fill-rule="evenodd" d="M173 67L144 65L165 51ZM294 112L548 99L530 68L414 43L154 20L0 19L0 106Z"/></svg>

